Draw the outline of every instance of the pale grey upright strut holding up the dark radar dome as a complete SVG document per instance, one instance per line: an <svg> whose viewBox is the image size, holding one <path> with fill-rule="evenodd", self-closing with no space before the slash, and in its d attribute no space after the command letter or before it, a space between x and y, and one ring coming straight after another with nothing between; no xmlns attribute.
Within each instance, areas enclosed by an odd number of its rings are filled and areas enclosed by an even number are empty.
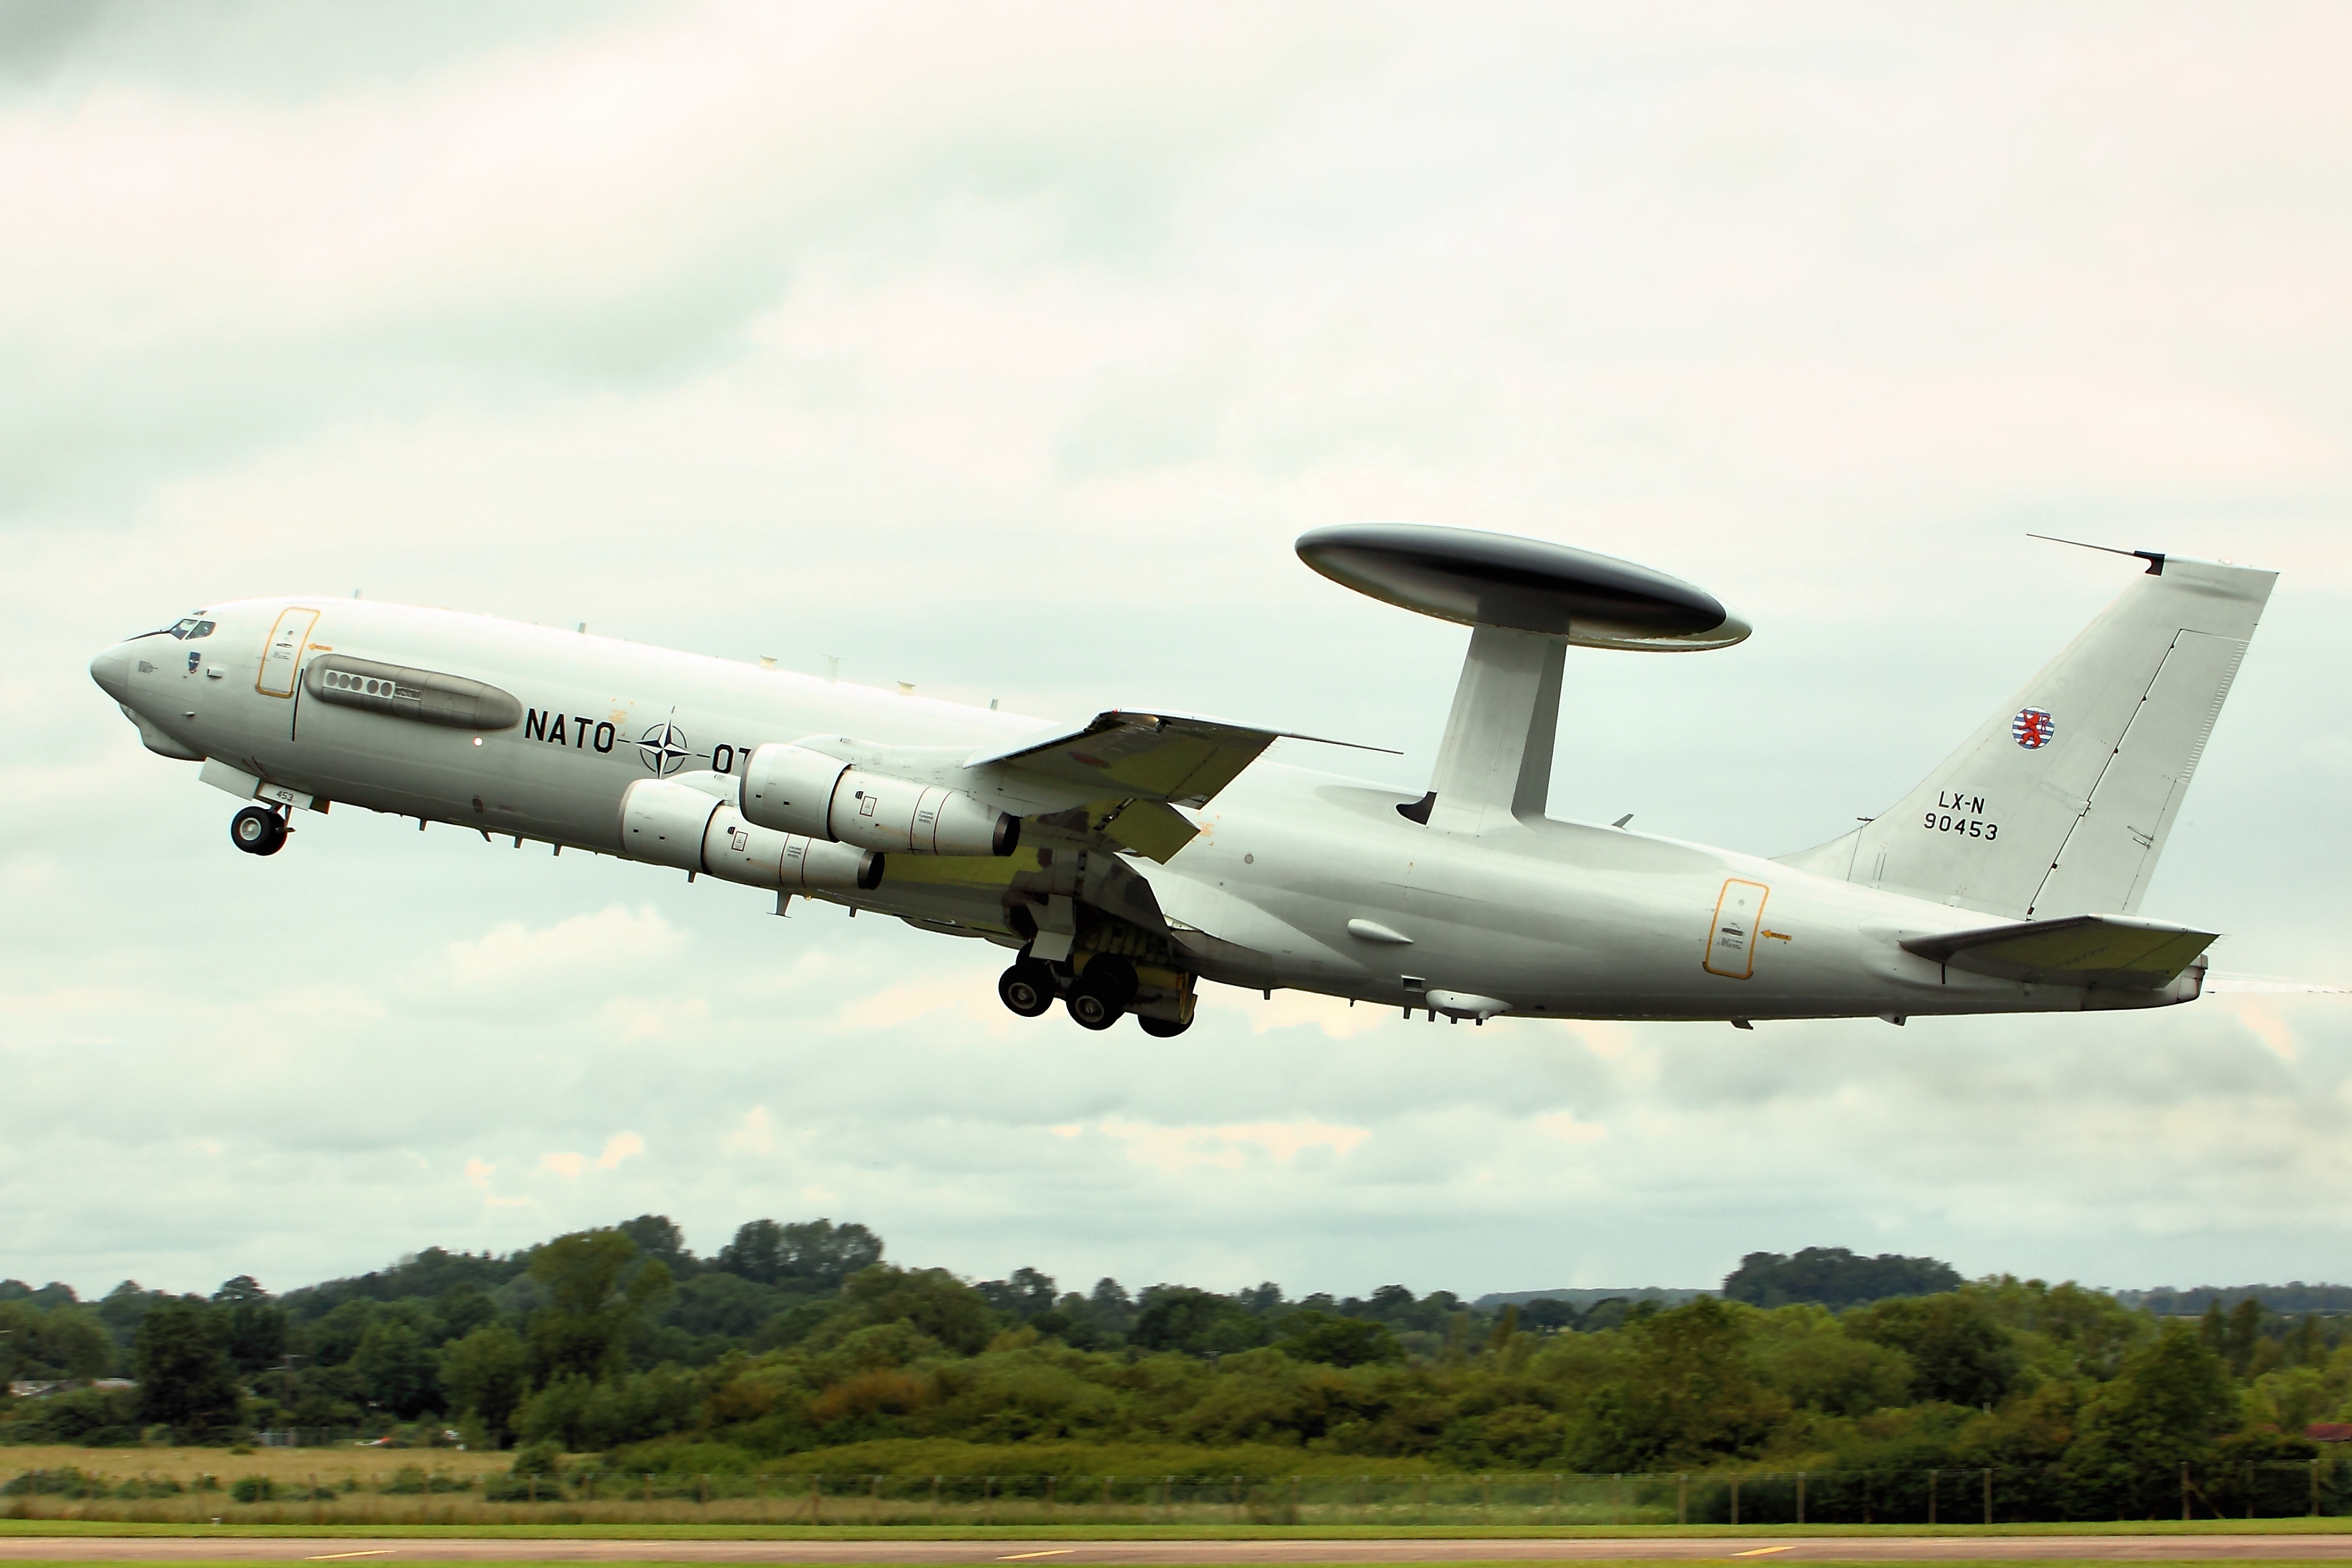
<svg viewBox="0 0 2352 1568"><path fill-rule="evenodd" d="M1482 832L1543 816L1569 644L1501 625L1470 630L1446 738L1430 771L1430 827Z"/></svg>

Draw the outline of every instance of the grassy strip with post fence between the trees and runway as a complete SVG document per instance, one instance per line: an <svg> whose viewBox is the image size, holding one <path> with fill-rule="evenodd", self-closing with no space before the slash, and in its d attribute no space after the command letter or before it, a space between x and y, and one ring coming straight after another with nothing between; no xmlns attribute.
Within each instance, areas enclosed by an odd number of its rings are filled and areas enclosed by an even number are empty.
<svg viewBox="0 0 2352 1568"><path fill-rule="evenodd" d="M358 1479L24 1469L0 1516L223 1523L734 1526L1994 1526L2352 1514L2352 1460L2056 1467L1428 1476L456 1474Z"/></svg>

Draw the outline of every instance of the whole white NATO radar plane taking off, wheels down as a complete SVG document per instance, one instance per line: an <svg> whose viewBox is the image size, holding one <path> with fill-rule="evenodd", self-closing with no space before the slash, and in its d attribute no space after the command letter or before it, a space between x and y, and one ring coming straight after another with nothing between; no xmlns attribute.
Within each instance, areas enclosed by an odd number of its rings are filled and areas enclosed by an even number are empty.
<svg viewBox="0 0 2352 1568"><path fill-rule="evenodd" d="M1338 583L1470 630L1430 788L1181 712L1011 712L442 609L238 599L92 677L278 853L329 802L800 893L1016 950L1014 1013L1192 1023L1195 983L1454 1020L1889 1018L2192 1001L2211 931L2136 912L2277 574L2145 571L1919 788L1804 853L1545 816L1571 649L1748 625L1604 555L1317 529ZM1590 658L1576 654L1576 658ZM1305 736L1298 736L1305 741ZM1291 748L1296 755L1296 748ZM1628 818L1630 820L1630 818Z"/></svg>

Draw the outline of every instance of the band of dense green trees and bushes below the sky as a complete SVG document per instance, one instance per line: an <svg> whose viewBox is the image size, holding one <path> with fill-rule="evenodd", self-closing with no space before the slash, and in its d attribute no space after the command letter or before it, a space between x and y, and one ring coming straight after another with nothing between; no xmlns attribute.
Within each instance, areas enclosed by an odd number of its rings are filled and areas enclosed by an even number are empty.
<svg viewBox="0 0 2352 1568"><path fill-rule="evenodd" d="M456 1432L548 1469L569 1453L743 1472L847 1446L873 1467L922 1446L929 1467L1021 1469L1014 1443L1084 1443L1105 1467L1183 1450L1204 1474L2025 1467L2063 1493L2053 1507L2143 1512L2183 1462L2312 1458L2305 1427L2352 1413L2340 1316L2251 1293L2159 1316L1839 1248L1752 1253L1722 1295L1675 1307L1482 1312L1404 1286L1294 1300L1275 1284L1063 1291L1037 1269L967 1281L887 1262L880 1237L830 1220L753 1220L696 1258L642 1215L285 1295L249 1276L96 1302L5 1284L0 1331L14 1380L134 1385L9 1399L0 1441Z"/></svg>

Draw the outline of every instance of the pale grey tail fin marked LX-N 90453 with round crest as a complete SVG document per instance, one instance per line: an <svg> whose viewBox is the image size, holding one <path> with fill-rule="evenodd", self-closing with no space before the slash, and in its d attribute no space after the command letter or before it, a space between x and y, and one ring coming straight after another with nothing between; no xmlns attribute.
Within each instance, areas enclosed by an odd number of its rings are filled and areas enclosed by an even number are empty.
<svg viewBox="0 0 2352 1568"><path fill-rule="evenodd" d="M1783 863L2016 919L2138 912L2279 576L2145 559L1898 806Z"/></svg>

